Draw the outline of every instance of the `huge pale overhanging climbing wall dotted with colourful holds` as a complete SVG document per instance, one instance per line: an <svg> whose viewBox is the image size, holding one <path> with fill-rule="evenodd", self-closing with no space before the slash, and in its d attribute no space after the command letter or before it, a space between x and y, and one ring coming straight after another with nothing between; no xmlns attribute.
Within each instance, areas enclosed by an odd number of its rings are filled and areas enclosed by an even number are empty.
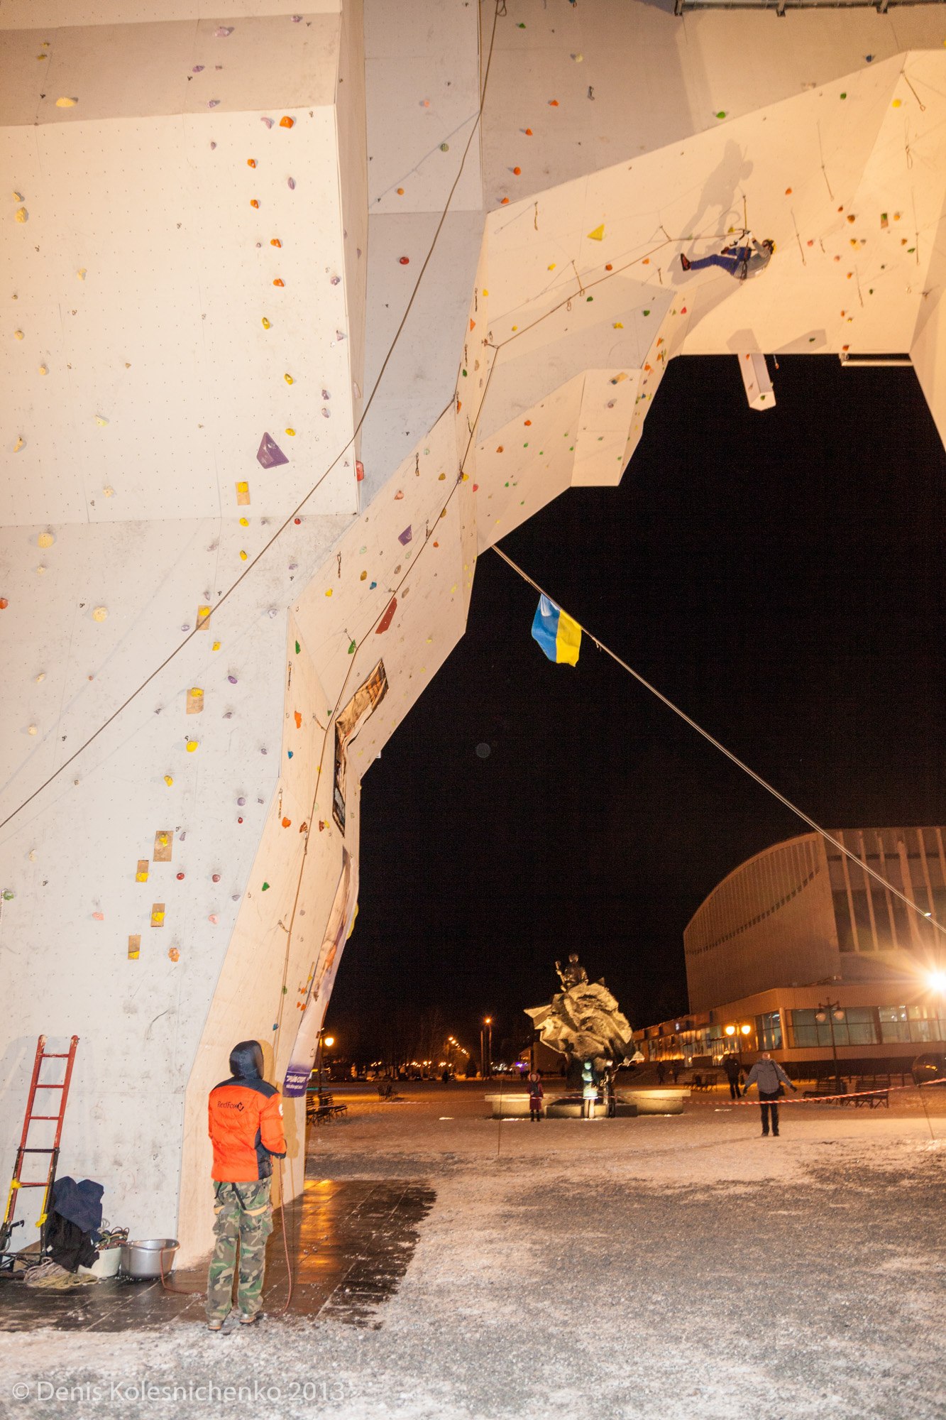
<svg viewBox="0 0 946 1420"><path fill-rule="evenodd" d="M305 1058L477 554L616 483L678 354L912 349L946 425L939 21L504 10L0 14L0 1150L75 1031L64 1162L185 1260L206 1091ZM763 275L683 273L744 223Z"/></svg>

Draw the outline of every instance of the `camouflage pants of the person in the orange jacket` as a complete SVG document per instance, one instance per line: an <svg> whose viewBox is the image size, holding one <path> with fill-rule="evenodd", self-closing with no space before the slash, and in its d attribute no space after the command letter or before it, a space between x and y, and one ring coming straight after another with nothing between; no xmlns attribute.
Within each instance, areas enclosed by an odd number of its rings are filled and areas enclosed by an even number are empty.
<svg viewBox="0 0 946 1420"><path fill-rule="evenodd" d="M217 1245L207 1274L207 1321L223 1321L233 1305L233 1274L240 1245L237 1306L244 1316L260 1309L266 1240L273 1231L270 1179L250 1183L214 1183L213 1233Z"/></svg>

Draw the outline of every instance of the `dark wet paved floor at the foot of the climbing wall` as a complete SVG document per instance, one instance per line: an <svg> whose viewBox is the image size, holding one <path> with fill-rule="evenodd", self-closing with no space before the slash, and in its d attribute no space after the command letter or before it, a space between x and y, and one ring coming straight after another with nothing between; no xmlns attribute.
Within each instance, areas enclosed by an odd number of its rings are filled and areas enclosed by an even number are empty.
<svg viewBox="0 0 946 1420"><path fill-rule="evenodd" d="M266 1250L263 1309L280 1315L322 1312L352 1326L382 1323L379 1314L413 1255L418 1224L430 1211L432 1189L396 1180L307 1179L301 1200L286 1208L286 1244L293 1271L288 1295L281 1210L274 1213ZM207 1194L210 1207L210 1194ZM175 1272L161 1281L99 1281L67 1292L0 1281L0 1331L159 1331L172 1321L203 1323L206 1269Z"/></svg>

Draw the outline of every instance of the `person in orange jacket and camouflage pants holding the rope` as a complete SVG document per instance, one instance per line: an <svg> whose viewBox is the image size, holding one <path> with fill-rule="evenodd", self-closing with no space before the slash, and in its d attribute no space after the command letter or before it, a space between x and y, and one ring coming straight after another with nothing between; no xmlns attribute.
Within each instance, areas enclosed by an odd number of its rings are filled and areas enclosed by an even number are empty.
<svg viewBox="0 0 946 1420"><path fill-rule="evenodd" d="M286 1157L280 1092L263 1079L263 1048L240 1041L230 1051L230 1079L210 1091L213 1145L213 1231L217 1240L207 1275L207 1326L220 1331L233 1306L233 1275L240 1248L240 1322L259 1319L266 1240L273 1231L271 1159Z"/></svg>

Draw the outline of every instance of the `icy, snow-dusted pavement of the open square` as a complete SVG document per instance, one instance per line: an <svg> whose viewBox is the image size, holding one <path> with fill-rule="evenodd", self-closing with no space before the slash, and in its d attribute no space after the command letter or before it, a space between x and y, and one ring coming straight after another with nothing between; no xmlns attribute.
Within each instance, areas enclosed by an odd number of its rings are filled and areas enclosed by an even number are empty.
<svg viewBox="0 0 946 1420"><path fill-rule="evenodd" d="M720 1098L676 1118L499 1125L486 1092L362 1093L315 1130L310 1177L403 1177L436 1194L366 1326L322 1315L249 1335L172 1322L146 1338L3 1336L1 1413L946 1416L946 1102L932 1127L906 1099L787 1108L781 1137L761 1139L759 1112ZM162 1393L173 1386L178 1399Z"/></svg>

